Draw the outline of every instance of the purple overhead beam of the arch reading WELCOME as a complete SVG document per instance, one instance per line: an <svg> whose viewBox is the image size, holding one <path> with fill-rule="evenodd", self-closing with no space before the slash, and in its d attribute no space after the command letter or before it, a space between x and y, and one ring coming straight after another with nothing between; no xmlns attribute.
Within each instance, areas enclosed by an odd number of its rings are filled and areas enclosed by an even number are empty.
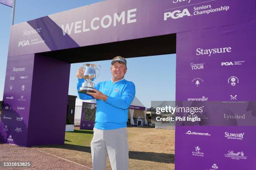
<svg viewBox="0 0 256 170"><path fill-rule="evenodd" d="M255 0L107 0L13 25L8 55L249 23L256 20L255 3Z"/></svg>

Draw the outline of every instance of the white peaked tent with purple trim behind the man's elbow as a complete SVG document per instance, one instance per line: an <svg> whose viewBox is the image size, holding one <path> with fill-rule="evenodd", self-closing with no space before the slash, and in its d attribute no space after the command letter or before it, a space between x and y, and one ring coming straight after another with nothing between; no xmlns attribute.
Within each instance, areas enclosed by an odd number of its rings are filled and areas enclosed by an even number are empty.
<svg viewBox="0 0 256 170"><path fill-rule="evenodd" d="M145 107L140 100L135 96L133 99L133 102L131 103L132 106L137 106L137 107ZM145 110L137 110L136 107L135 109L130 108L129 109L129 115L128 117L130 118L131 125L134 125L133 122L133 117L137 118L140 116L141 118L144 118L144 124L148 124L147 117L146 117L146 107ZM132 117L132 118L131 118Z"/></svg>

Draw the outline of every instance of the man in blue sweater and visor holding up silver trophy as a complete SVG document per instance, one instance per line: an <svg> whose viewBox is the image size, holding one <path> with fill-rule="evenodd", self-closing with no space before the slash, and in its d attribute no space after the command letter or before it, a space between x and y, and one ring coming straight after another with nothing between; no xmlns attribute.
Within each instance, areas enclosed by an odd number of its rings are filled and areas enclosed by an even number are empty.
<svg viewBox="0 0 256 170"><path fill-rule="evenodd" d="M91 141L93 170L105 170L107 155L112 170L128 170L128 107L135 96L135 85L124 79L126 60L117 56L111 62L112 80L92 83L100 66L87 64L77 71L77 90L82 100L96 99L97 110Z"/></svg>

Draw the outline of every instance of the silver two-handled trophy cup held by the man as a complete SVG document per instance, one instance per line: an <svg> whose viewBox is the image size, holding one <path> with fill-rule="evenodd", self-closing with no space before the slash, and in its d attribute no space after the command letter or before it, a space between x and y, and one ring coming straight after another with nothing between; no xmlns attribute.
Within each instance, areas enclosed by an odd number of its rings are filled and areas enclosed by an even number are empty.
<svg viewBox="0 0 256 170"><path fill-rule="evenodd" d="M84 70L84 82L82 83L82 87L79 88L79 93L86 94L87 92L94 92L94 83L100 75L100 65L95 64L82 64L80 66ZM99 70L99 73L96 75L96 70Z"/></svg>

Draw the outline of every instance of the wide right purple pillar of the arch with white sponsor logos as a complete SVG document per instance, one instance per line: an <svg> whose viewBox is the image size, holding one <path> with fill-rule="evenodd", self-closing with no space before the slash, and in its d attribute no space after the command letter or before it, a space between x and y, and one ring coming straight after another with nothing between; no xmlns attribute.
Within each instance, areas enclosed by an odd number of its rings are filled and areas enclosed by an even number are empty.
<svg viewBox="0 0 256 170"><path fill-rule="evenodd" d="M176 126L175 170L256 169L255 102L236 104L255 100L255 31L248 23L177 34L176 100L234 102L238 108L216 105L204 126ZM219 114L222 122L214 122Z"/></svg>

